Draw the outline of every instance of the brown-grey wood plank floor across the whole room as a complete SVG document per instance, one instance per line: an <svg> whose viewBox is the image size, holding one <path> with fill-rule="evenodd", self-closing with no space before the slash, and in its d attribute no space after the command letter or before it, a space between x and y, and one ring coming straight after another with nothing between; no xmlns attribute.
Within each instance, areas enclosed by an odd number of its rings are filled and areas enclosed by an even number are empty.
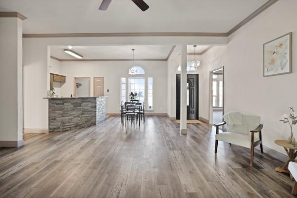
<svg viewBox="0 0 297 198"><path fill-rule="evenodd" d="M282 162L219 142L215 129L148 116L140 128L111 116L99 126L25 134L23 148L0 149L3 198L286 198L293 181ZM263 132L265 136L265 131Z"/></svg>

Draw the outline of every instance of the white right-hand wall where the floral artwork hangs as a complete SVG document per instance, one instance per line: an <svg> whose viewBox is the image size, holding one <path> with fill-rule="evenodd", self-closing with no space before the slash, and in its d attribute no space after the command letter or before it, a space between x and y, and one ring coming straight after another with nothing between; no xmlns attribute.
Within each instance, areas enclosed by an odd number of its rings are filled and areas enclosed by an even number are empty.
<svg viewBox="0 0 297 198"><path fill-rule="evenodd" d="M225 112L238 110L261 116L264 146L283 153L274 140L288 139L290 128L279 120L289 112L288 106L297 109L296 7L296 0L277 1L232 34L226 47L214 47L202 55L205 76L224 66ZM262 45L289 32L293 32L293 73L263 77ZM203 84L208 87L208 79ZM208 89L205 93L203 106L207 107ZM201 109L201 114L207 118L208 109Z"/></svg>

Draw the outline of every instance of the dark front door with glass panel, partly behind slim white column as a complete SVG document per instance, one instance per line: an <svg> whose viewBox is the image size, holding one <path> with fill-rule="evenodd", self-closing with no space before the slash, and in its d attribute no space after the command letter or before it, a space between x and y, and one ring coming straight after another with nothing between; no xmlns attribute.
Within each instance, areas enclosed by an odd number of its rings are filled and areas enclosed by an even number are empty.
<svg viewBox="0 0 297 198"><path fill-rule="evenodd" d="M198 74L187 75L187 119L198 119ZM181 75L176 74L176 119L181 112Z"/></svg>

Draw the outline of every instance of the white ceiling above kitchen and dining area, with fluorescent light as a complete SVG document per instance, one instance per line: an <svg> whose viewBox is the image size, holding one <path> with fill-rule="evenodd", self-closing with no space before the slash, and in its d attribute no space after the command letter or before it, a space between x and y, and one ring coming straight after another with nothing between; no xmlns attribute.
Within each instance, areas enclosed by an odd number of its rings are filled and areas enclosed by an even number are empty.
<svg viewBox="0 0 297 198"><path fill-rule="evenodd" d="M72 50L81 54L83 59L166 59L172 46L73 46ZM59 59L76 59L64 52L64 47L50 47L50 55Z"/></svg>

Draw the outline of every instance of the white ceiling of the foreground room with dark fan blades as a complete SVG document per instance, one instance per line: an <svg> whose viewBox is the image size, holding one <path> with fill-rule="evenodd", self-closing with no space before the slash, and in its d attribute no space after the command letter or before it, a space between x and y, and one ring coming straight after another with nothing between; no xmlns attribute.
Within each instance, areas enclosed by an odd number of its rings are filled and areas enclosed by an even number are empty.
<svg viewBox="0 0 297 198"><path fill-rule="evenodd" d="M0 11L28 19L24 33L228 32L267 0L146 0L141 11L131 0L0 0Z"/></svg>

